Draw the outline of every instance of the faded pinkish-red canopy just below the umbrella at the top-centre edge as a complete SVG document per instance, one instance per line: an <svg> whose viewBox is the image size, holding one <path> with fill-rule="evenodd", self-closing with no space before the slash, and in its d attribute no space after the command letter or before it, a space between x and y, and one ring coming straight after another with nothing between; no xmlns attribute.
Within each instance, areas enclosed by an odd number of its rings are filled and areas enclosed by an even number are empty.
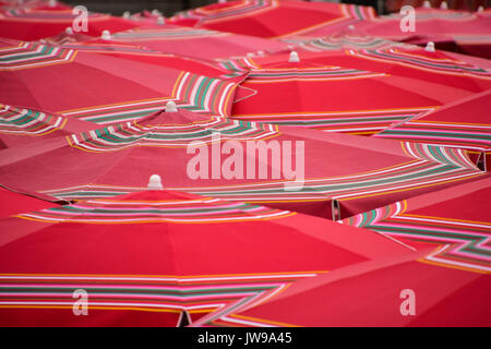
<svg viewBox="0 0 491 349"><path fill-rule="evenodd" d="M253 36L177 25L141 27L117 33L111 36L111 43L136 45L204 60L246 56L256 51L279 51L288 46Z"/></svg>

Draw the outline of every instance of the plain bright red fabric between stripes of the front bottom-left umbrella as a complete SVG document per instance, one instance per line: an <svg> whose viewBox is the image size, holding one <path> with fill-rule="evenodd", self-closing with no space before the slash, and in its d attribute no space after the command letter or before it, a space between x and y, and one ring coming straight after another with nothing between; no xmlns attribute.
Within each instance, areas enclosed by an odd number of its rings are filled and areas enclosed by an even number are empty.
<svg viewBox="0 0 491 349"><path fill-rule="evenodd" d="M115 200L136 201L142 203L141 207L145 207L145 201L158 203L196 197L149 191ZM110 204L106 207L113 208ZM247 217L244 214L244 218ZM58 274L74 277L211 277L244 274L267 276L275 273L333 270L366 261L394 257L404 252L400 244L376 233L300 214L268 220L226 224L50 224L9 218L0 220L0 229L2 274ZM110 281L105 281L107 282ZM135 281L135 285L140 284ZM69 293L71 292L72 290L69 290ZM60 294L58 298L68 300L67 294ZM2 296L0 302L7 299L8 296ZM0 308L0 324L176 326L177 323L175 312L100 310L93 309L91 300L89 293L88 316L74 316L71 306L49 311ZM133 300L144 301L137 296L134 296ZM182 302L183 305L187 303ZM192 315L194 321L200 316L202 315Z"/></svg>

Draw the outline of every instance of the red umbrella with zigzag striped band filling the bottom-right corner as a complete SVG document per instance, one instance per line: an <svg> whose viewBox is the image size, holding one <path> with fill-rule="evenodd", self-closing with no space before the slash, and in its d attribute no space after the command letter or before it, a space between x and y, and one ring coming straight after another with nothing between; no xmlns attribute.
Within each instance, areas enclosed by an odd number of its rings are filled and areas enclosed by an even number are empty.
<svg viewBox="0 0 491 349"><path fill-rule="evenodd" d="M298 281L196 325L490 326L490 195L488 177L345 219L416 251Z"/></svg>

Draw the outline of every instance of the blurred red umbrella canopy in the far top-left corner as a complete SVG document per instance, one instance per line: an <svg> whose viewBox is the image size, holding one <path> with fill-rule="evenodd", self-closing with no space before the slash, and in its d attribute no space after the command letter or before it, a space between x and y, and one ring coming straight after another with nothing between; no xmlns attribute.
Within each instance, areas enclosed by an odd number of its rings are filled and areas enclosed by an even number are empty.
<svg viewBox="0 0 491 349"><path fill-rule="evenodd" d="M72 9L52 11L38 9L0 10L0 37L17 40L38 40L58 35L71 27L79 14ZM99 36L103 31L121 32L139 26L137 22L111 16L109 14L87 14L87 32L91 36Z"/></svg>

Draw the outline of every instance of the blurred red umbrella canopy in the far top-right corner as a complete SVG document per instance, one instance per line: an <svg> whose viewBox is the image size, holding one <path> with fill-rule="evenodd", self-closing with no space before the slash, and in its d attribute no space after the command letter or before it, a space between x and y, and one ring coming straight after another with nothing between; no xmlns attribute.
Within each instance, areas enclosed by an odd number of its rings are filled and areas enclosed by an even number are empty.
<svg viewBox="0 0 491 349"><path fill-rule="evenodd" d="M374 17L357 24L356 28L386 39L418 45L433 41L441 49L491 58L489 15L419 8L416 10L415 32L407 33L400 31L402 17L399 13Z"/></svg>

